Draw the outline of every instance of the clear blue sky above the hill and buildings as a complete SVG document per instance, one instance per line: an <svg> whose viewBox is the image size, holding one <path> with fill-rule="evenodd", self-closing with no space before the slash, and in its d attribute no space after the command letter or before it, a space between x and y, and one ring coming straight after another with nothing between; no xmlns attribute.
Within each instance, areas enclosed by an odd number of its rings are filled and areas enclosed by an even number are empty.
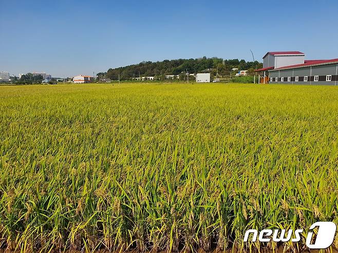
<svg viewBox="0 0 338 253"><path fill-rule="evenodd" d="M0 0L0 71L56 77L142 61L338 58L338 1Z"/></svg>

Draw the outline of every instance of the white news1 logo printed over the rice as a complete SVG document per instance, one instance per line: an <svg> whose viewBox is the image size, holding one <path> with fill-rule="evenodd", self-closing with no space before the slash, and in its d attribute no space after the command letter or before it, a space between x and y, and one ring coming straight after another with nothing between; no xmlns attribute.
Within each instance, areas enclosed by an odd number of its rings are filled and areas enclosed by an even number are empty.
<svg viewBox="0 0 338 253"><path fill-rule="evenodd" d="M317 236L315 237L314 243L312 243L314 239L313 230L315 227L318 227ZM308 235L306 237L306 246L310 249L325 249L331 246L334 240L336 225L333 222L324 222L318 221L313 223L309 228ZM274 242L299 242L301 240L301 233L303 233L303 229L296 229L294 231L294 237L292 237L293 230L290 229L286 233L286 229L263 229L259 232L256 229L248 229L244 236L244 242L248 242L249 235L252 234L252 242L270 242L271 240ZM272 238L271 238L272 236Z"/></svg>

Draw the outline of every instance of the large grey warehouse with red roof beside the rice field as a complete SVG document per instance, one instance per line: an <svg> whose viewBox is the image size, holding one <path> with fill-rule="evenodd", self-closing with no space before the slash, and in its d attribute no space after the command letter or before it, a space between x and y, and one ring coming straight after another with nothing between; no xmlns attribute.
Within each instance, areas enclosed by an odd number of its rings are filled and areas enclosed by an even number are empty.
<svg viewBox="0 0 338 253"><path fill-rule="evenodd" d="M338 59L305 60L299 51L268 52L256 72L263 84L338 85Z"/></svg>

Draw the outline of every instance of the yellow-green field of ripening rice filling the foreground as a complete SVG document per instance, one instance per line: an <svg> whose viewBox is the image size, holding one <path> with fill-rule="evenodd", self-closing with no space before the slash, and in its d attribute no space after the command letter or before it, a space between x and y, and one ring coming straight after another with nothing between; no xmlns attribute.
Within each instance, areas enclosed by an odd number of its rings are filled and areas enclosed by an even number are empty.
<svg viewBox="0 0 338 253"><path fill-rule="evenodd" d="M336 87L1 86L0 117L2 249L276 250L246 230L338 223Z"/></svg>

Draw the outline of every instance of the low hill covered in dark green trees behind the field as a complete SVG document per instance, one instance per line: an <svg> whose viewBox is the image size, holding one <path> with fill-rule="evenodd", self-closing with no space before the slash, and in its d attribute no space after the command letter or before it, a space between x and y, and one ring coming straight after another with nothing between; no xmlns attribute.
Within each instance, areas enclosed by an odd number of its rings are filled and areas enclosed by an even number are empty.
<svg viewBox="0 0 338 253"><path fill-rule="evenodd" d="M141 62L119 68L109 68L107 72L98 73L98 78L111 80L132 80L135 77L155 76L156 80L165 79L165 75L182 75L189 73L211 73L212 77L226 77L235 75L238 70L248 70L254 74L255 68L261 68L262 63L246 62L245 60L225 60L218 57L202 57L198 59L164 60L162 62ZM232 70L238 68L238 70Z"/></svg>

